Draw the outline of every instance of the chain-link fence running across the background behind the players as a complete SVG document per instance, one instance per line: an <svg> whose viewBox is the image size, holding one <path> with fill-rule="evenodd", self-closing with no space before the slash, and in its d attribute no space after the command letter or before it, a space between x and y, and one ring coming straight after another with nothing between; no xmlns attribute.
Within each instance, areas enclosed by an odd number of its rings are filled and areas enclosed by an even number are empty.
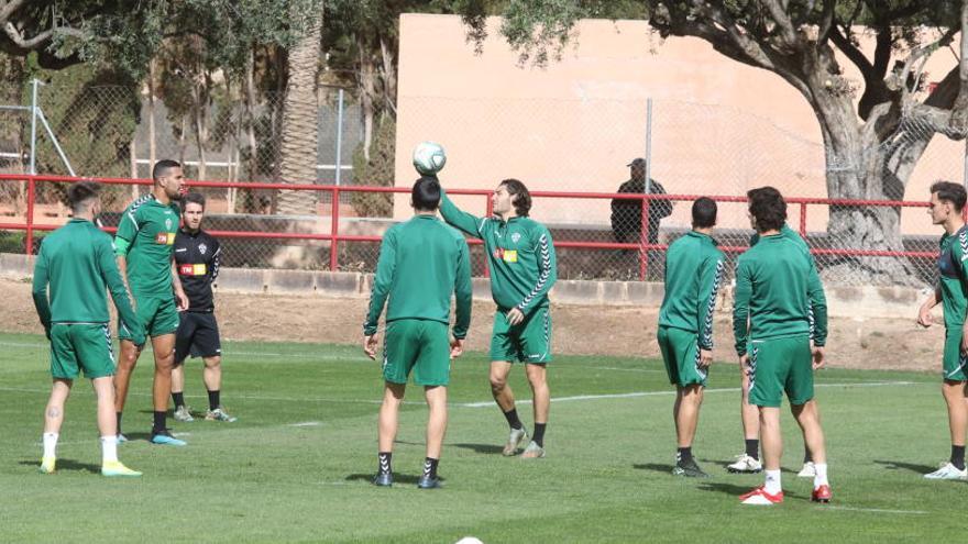
<svg viewBox="0 0 968 544"><path fill-rule="evenodd" d="M190 109L168 108L162 100L152 103L146 97L120 87L90 87L75 95L44 89L38 103L61 152L51 134L38 129L36 170L146 178L153 159L170 157L186 165L189 178L276 181L283 99L282 93L264 93L253 107L241 100L217 98L199 115ZM31 112L20 108L0 109L4 121L0 168L6 173L25 173L30 167ZM330 97L320 100L318 111L315 181L339 181L342 187L352 187L354 151L359 154L363 140L360 108L346 98L340 115L338 99ZM559 248L560 277L565 279L636 280L644 277L644 271L647 279L661 279L661 245L690 229L690 199L680 196L744 197L754 187L772 185L791 198L824 199L829 176L861 167L832 158L817 143L818 134L799 134L732 108L667 100L654 101L650 107L647 100L402 97L396 121L396 145L402 151L391 162L396 165L395 177L400 186L408 186L416 177L409 166L411 145L436 140L448 149L448 166L441 180L449 188L486 190L501 179L516 177L539 195L598 193L598 198L535 199L531 215L548 224L557 241L569 242L569 247ZM920 155L911 171L902 173L906 182L892 200L925 201L927 187L935 179L963 179L964 152L960 144L943 135L925 137L937 127L919 124L913 116L905 118L905 122L894 137L882 144L883 148L867 152L901 149L901 154ZM205 130L199 131L199 126ZM930 144L922 145L925 141ZM394 148L382 153L393 154ZM645 160L638 163L636 158ZM638 173L638 168L645 171ZM645 221L638 199L613 199L606 195L620 191L631 196L647 188L651 192L664 191L672 200L664 204L651 201ZM111 224L112 215L145 190L111 186L106 195L106 223ZM209 230L296 235L328 234L331 230L334 207L328 191L316 199L316 215L283 217L272 213L272 189L197 190L208 198ZM67 210L61 204L63 192L63 184L37 184L35 223L59 224L66 220ZM408 195L367 198L340 192L336 208L341 234L380 236L395 221L409 215ZM374 200L384 203L374 206ZM461 196L454 200L472 213L486 214L486 196ZM360 204L364 201L365 207ZM862 218L873 207L850 204L842 209L856 211ZM789 223L795 230L802 225L811 247L822 251L817 263L828 284L871 282L864 265L858 266L858 257L836 253L859 247L856 237L842 235L843 231L831 224L832 215L842 217L837 215L842 209L793 204ZM895 249L924 254L936 251L939 231L931 224L923 208L888 210L897 214L901 245ZM24 218L24 184L0 184L0 213L6 217L4 223ZM723 245L737 248L729 252L730 259L747 245L750 234L745 203L721 202L717 238ZM20 244L23 251L22 242L22 233L6 232L0 236L0 249L12 251ZM593 247L573 247L572 243ZM646 251L642 244L654 247ZM226 259L228 266L326 269L330 266L329 248L329 242L318 240L227 238ZM833 254L823 253L832 249ZM340 242L338 266L343 270L371 271L377 253L378 242ZM474 273L483 275L485 259L481 247L472 247L472 253ZM927 256L865 258L902 263L908 276L894 277L890 282L925 285L933 282L936 274L933 259Z"/></svg>

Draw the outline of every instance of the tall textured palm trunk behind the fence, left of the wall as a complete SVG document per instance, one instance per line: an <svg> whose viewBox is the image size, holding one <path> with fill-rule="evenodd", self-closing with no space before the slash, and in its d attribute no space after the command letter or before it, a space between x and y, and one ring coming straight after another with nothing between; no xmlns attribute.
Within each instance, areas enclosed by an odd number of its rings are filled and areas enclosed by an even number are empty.
<svg viewBox="0 0 968 544"><path fill-rule="evenodd" d="M305 18L302 21L306 21L306 27L298 43L289 51L279 174L284 184L311 185L317 179L319 147L317 76L322 7L319 7L318 12L309 14L294 10L293 18ZM315 191L283 190L277 196L276 213L315 214L317 200Z"/></svg>

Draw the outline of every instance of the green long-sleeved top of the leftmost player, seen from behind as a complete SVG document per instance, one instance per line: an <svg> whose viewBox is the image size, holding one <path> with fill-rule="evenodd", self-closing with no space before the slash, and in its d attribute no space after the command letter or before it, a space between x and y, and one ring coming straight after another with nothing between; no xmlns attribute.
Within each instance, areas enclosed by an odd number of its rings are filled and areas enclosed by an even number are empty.
<svg viewBox="0 0 968 544"><path fill-rule="evenodd" d="M111 236L90 221L73 219L44 237L33 282L34 306L44 329L50 330L52 323L107 323L105 286L122 324L131 332L142 331L118 271Z"/></svg>

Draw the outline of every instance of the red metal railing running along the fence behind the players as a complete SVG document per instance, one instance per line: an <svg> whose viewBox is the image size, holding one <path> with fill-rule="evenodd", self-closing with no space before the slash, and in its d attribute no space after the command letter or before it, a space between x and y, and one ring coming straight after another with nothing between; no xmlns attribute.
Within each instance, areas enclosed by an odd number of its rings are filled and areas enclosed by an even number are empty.
<svg viewBox="0 0 968 544"><path fill-rule="evenodd" d="M0 174L0 182L26 182L26 218L23 223L0 223L0 230L22 230L26 231L25 245L26 252L33 251L33 237L35 231L53 231L59 225L37 224L34 222L34 206L36 201L36 184L37 182L74 182L79 180L92 180L108 185L152 185L151 179L131 179L131 178L78 178L69 176L44 176L44 175L23 175L23 174ZM338 246L340 242L380 242L381 236L371 235L352 235L340 233L340 193L341 192L389 192L389 193L409 193L410 189L405 187L363 187L363 186L324 186L324 185L292 185L292 184L262 184L262 182L228 182L228 181L187 181L188 187L206 187L206 188L235 188L235 189L265 189L265 190L302 190L329 192L332 196L331 208L331 225L330 232L327 234L307 234L307 233L274 233L274 232L248 232L248 231L210 231L216 236L238 237L238 238L286 238L286 240L320 240L330 241L329 265L331 270L339 268ZM480 189L449 189L450 195L470 195L490 197L491 190ZM571 191L535 191L531 193L536 198L548 199L600 199L600 200L642 200L641 217L641 234L638 244L635 243L617 243L617 242L584 242L584 241L554 241L556 247L573 247L582 249L638 249L639 251L639 278L645 279L648 275L648 251L666 249L666 244L650 244L649 240L649 207L653 200L670 201L692 201L700 198L698 195L637 195L637 193L612 193L612 192L571 192ZM746 202L746 197L710 197L717 202ZM806 215L809 206L842 206L842 207L903 207L903 208L926 208L926 202L911 202L900 200L849 200L849 199L824 199L824 198L788 198L788 204L800 208L799 231L802 236L806 236ZM490 198L486 198L486 214L493 211ZM966 209L968 212L968 209ZM114 229L105 229L113 232ZM469 241L471 244L481 244L480 240ZM747 249L746 246L721 246L721 249L730 253L739 253ZM811 252L815 255L844 255L844 256L878 256L878 257L921 257L932 258L936 256L934 252L906 252L906 251L876 251L876 249L851 249L851 248L813 248ZM484 268L485 276L487 267Z"/></svg>

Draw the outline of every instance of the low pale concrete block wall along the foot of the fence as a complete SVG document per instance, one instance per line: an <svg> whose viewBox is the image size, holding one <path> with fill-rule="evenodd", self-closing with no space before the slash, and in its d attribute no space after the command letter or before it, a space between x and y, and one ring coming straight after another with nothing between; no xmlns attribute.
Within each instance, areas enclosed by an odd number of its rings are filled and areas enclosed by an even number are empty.
<svg viewBox="0 0 968 544"><path fill-rule="evenodd" d="M33 274L33 264L25 255L0 254L0 275L10 279L25 279ZM373 276L359 273L328 273L309 270L275 270L258 268L222 268L217 292L277 293L320 297L370 296ZM659 308L663 286L641 281L558 281L551 291L557 304L581 306L642 306ZM913 321L924 292L901 287L835 287L826 290L831 317L839 318L899 318ZM733 309L733 289L721 293L719 312ZM491 300L487 279L474 279L474 298Z"/></svg>

